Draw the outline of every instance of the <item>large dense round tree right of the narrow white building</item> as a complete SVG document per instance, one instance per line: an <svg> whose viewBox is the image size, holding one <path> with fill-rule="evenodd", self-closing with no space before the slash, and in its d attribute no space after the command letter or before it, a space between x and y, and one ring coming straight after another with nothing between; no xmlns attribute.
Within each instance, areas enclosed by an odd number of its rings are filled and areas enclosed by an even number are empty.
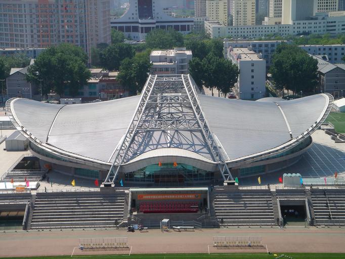
<svg viewBox="0 0 345 259"><path fill-rule="evenodd" d="M270 73L278 89L312 92L317 84L318 62L294 45L281 44L273 55Z"/></svg>

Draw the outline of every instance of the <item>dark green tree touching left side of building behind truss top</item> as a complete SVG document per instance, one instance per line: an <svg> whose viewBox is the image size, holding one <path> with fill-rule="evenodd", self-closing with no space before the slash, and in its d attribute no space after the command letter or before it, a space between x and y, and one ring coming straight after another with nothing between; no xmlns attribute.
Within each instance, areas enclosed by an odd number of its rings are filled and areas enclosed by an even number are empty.
<svg viewBox="0 0 345 259"><path fill-rule="evenodd" d="M150 50L146 50L137 53L132 59L124 59L121 63L117 79L128 88L130 95L137 95L143 90L151 67L149 56Z"/></svg>

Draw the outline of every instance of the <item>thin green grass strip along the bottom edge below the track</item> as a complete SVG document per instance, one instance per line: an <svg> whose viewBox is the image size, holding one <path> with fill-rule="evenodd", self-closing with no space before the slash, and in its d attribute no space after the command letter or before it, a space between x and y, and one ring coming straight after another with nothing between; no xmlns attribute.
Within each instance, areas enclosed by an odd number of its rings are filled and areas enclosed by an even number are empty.
<svg viewBox="0 0 345 259"><path fill-rule="evenodd" d="M281 256L280 255L286 255ZM117 259L117 258L126 258L125 255L73 255L72 258L96 258L96 259ZM132 259L197 259L197 258L210 258L210 259L274 259L279 258L292 258L292 259L342 259L345 258L345 253L217 253L217 254L207 254L207 253L189 253L189 254L131 254L129 256ZM7 257L9 258L9 257ZM16 259L67 259L71 256L40 256L40 257L11 257Z"/></svg>

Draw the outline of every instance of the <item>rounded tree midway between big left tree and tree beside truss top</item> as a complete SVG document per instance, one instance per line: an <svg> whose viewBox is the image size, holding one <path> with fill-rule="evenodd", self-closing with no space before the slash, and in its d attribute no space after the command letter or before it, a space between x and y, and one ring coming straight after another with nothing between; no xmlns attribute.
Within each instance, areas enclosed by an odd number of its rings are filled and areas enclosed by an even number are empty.
<svg viewBox="0 0 345 259"><path fill-rule="evenodd" d="M131 45L118 43L108 46L101 52L100 60L103 68L111 70L119 70L121 61L125 58L133 58L134 50Z"/></svg>

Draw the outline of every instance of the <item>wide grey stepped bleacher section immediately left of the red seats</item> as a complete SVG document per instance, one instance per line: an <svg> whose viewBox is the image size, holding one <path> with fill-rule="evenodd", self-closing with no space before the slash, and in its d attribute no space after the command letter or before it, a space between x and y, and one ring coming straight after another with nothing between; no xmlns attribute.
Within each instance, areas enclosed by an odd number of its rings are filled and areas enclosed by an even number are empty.
<svg viewBox="0 0 345 259"><path fill-rule="evenodd" d="M31 229L114 227L123 220L124 192L37 193Z"/></svg>

